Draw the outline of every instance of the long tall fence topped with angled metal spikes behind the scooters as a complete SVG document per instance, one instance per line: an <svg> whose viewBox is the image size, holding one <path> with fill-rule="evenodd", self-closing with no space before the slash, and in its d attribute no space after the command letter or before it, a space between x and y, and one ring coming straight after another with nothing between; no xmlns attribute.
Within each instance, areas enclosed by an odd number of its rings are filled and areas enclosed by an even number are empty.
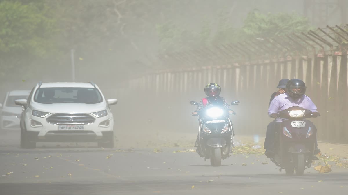
<svg viewBox="0 0 348 195"><path fill-rule="evenodd" d="M203 98L206 84L218 83L221 96L240 101L231 107L237 112L231 116L236 134L265 135L271 93L280 79L299 78L321 113L310 119L319 139L347 143L347 27L166 54L161 62L175 68L129 80L117 94L139 102L137 109L146 113L139 120L151 121L152 128L194 132L197 120L189 101Z"/></svg>

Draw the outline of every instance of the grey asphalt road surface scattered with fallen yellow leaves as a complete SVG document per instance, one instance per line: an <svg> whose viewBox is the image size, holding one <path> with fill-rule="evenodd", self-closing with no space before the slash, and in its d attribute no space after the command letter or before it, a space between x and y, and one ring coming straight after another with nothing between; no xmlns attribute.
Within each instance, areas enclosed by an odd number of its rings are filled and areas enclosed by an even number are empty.
<svg viewBox="0 0 348 195"><path fill-rule="evenodd" d="M0 194L348 194L347 169L322 174L312 167L289 177L262 155L235 155L211 167L195 152L177 150L183 148L23 150L18 140L1 137Z"/></svg>

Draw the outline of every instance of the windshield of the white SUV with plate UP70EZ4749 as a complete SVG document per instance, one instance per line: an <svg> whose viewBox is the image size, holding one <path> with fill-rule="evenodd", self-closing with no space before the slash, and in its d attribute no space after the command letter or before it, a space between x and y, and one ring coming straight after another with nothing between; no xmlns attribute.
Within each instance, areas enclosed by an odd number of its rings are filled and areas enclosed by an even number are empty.
<svg viewBox="0 0 348 195"><path fill-rule="evenodd" d="M84 87L45 87L38 88L34 101L43 104L53 103L86 103L95 104L103 101L96 88Z"/></svg>

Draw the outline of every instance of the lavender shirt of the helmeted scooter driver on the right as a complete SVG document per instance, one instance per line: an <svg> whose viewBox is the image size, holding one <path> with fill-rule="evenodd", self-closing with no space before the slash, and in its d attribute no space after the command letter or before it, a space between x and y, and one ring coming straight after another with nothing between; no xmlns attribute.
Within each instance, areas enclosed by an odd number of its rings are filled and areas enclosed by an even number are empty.
<svg viewBox="0 0 348 195"><path fill-rule="evenodd" d="M289 97L287 93L283 93L276 96L272 100L268 109L268 116L270 116L272 113L279 113L279 111L286 110L293 106L299 106L312 112L317 112L317 107L307 95L303 95L300 99L294 100ZM282 122L285 120L287 119L276 118L277 122Z"/></svg>

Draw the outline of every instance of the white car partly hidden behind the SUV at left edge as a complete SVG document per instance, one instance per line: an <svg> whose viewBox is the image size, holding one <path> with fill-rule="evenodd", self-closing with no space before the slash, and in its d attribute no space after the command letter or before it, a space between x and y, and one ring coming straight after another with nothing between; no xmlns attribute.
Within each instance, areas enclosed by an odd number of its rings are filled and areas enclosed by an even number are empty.
<svg viewBox="0 0 348 195"><path fill-rule="evenodd" d="M2 131L19 131L19 119L22 108L15 104L15 100L27 99L30 90L13 90L5 95L3 104L0 104L0 129Z"/></svg>

